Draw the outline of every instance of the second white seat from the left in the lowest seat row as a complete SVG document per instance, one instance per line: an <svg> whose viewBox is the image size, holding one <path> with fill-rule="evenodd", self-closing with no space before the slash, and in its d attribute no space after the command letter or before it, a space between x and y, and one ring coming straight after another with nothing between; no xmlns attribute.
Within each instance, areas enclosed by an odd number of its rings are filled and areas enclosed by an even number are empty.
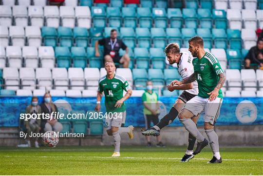
<svg viewBox="0 0 263 176"><path fill-rule="evenodd" d="M36 76L34 68L22 67L19 69L22 89L36 89ZM30 85L30 86L28 86Z"/></svg>

